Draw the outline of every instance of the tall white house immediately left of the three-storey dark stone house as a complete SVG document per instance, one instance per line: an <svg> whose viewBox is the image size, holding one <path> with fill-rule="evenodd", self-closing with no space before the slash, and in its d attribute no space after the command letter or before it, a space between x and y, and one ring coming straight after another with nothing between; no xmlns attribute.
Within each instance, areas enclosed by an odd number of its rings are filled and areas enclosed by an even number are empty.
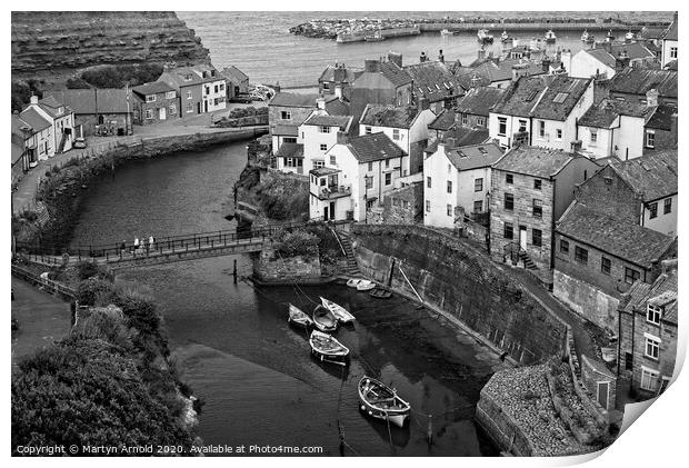
<svg viewBox="0 0 689 468"><path fill-rule="evenodd" d="M455 228L463 213L488 210L490 166L502 157L495 143L457 147L438 143L423 161L423 225Z"/></svg>

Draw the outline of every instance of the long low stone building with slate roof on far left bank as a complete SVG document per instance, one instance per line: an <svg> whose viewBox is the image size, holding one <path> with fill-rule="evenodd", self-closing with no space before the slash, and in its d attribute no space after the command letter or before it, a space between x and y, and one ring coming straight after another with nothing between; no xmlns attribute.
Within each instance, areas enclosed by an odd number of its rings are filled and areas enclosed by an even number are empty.
<svg viewBox="0 0 689 468"><path fill-rule="evenodd" d="M131 91L117 88L66 89L44 94L64 102L74 111L76 137L132 135Z"/></svg>

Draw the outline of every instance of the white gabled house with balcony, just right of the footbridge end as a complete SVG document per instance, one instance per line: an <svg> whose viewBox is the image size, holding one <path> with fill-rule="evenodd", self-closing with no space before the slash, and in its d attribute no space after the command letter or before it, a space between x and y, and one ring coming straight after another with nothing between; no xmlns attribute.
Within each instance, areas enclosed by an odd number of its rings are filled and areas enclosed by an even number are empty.
<svg viewBox="0 0 689 468"><path fill-rule="evenodd" d="M395 188L407 155L382 132L338 136L326 166L309 171L309 217L366 221L367 208L381 206Z"/></svg>

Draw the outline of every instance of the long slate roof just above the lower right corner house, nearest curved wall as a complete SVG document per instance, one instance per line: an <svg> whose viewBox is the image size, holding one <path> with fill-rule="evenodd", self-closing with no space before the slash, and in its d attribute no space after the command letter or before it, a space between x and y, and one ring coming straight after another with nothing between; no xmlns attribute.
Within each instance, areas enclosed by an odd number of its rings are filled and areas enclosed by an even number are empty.
<svg viewBox="0 0 689 468"><path fill-rule="evenodd" d="M556 222L556 231L643 268L650 268L673 242L669 236L609 217L580 201Z"/></svg>

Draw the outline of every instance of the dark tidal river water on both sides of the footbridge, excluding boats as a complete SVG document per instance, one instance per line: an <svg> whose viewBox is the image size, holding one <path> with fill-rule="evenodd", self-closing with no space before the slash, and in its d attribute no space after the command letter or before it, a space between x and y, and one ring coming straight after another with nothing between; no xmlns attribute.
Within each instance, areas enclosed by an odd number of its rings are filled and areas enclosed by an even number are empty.
<svg viewBox="0 0 689 468"><path fill-rule="evenodd" d="M73 243L231 229L224 216L244 161L241 142L120 167L90 183ZM249 258L236 258L240 273L249 273ZM232 260L119 276L146 285L159 301L182 379L206 402L204 444L271 447L274 455L286 455L284 447L321 447L330 456L497 455L473 414L481 387L502 362L472 338L399 297L372 299L344 286L234 283ZM287 322L287 302L311 311L319 296L357 317L337 332L351 349L348 368L312 359L304 332ZM381 376L412 405L409 427L388 430L358 410L365 374Z"/></svg>

